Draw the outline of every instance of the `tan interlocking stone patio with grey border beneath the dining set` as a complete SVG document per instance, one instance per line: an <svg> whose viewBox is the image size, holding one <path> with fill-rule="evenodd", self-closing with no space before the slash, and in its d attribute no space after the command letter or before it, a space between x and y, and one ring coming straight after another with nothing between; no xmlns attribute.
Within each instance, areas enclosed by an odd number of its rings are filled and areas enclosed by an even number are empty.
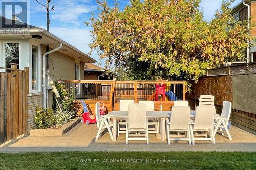
<svg viewBox="0 0 256 170"><path fill-rule="evenodd" d="M231 126L230 133L233 140L216 134L216 144L210 141L196 141L195 145L188 145L185 141L162 142L150 134L150 144L145 141L131 141L125 144L125 134L121 134L116 142L105 133L97 142L96 124L79 123L63 136L27 136L15 143L9 143L0 148L0 152L54 152L54 151L256 151L256 136L237 127Z"/></svg>

